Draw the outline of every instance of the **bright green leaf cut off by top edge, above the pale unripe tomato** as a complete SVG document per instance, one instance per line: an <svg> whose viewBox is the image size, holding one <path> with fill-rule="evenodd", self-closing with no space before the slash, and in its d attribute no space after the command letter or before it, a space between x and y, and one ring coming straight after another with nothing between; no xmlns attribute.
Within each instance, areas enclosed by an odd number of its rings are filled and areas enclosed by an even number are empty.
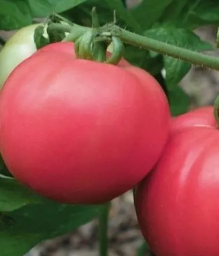
<svg viewBox="0 0 219 256"><path fill-rule="evenodd" d="M33 17L46 17L80 5L87 0L26 0Z"/></svg>

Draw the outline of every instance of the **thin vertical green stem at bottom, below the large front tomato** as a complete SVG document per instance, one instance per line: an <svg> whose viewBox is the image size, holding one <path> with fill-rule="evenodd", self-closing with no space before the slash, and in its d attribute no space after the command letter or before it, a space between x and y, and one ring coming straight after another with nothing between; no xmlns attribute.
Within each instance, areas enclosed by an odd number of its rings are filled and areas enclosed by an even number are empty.
<svg viewBox="0 0 219 256"><path fill-rule="evenodd" d="M110 204L103 208L99 217L99 255L108 256L108 220Z"/></svg>

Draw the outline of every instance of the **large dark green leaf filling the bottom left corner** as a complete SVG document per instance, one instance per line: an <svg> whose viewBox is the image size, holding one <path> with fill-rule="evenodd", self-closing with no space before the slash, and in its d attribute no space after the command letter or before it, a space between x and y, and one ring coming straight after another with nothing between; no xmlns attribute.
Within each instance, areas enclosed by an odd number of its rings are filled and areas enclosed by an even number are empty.
<svg viewBox="0 0 219 256"><path fill-rule="evenodd" d="M97 217L106 205L47 201L0 214L1 256L22 256L39 242L64 235Z"/></svg>

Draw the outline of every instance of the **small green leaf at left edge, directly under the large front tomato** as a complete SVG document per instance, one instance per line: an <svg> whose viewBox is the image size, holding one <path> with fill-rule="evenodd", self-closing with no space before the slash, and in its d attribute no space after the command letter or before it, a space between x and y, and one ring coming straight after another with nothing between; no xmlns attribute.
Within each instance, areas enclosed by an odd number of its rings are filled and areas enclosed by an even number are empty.
<svg viewBox="0 0 219 256"><path fill-rule="evenodd" d="M27 204L43 201L42 197L23 187L13 178L0 174L0 212L13 211Z"/></svg>

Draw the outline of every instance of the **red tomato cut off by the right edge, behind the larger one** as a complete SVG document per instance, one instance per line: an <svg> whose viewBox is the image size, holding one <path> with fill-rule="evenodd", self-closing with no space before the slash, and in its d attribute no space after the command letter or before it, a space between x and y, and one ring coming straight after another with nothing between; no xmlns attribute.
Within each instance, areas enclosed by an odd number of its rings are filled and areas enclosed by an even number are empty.
<svg viewBox="0 0 219 256"><path fill-rule="evenodd" d="M156 256L219 255L218 159L213 107L173 119L163 155L135 191L140 228Z"/></svg>

